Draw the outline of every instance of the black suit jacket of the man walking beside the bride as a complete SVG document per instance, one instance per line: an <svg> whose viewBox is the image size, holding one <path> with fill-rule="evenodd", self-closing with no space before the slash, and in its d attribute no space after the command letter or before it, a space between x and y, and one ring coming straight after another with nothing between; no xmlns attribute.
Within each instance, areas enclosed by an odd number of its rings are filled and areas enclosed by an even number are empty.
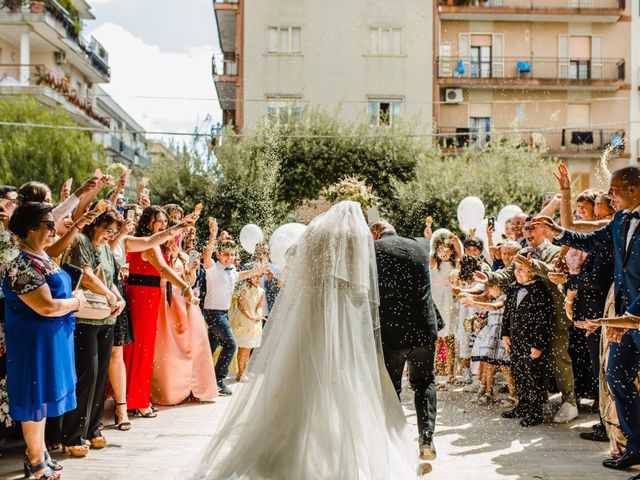
<svg viewBox="0 0 640 480"><path fill-rule="evenodd" d="M374 244L383 345L398 350L433 347L438 314L431 297L429 242L387 233Z"/></svg>

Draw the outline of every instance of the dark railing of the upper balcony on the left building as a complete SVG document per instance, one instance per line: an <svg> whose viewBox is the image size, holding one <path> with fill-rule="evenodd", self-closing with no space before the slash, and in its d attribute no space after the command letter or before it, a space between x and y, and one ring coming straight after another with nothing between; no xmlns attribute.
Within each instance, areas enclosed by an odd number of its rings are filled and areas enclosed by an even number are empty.
<svg viewBox="0 0 640 480"><path fill-rule="evenodd" d="M24 9L25 12L31 11L28 5L25 5ZM109 68L107 50L94 37L86 39L80 34L80 20L74 19L57 0L47 0L44 9L44 14L49 15L60 25L66 34L66 38L78 45L82 55L93 68L107 79L110 79L111 69Z"/></svg>

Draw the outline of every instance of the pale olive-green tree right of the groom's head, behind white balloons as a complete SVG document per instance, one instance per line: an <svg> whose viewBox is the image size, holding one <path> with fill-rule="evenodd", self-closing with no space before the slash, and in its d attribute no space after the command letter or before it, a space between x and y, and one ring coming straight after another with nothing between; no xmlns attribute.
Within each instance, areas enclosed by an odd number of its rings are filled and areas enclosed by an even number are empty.
<svg viewBox="0 0 640 480"><path fill-rule="evenodd" d="M428 215L434 228L458 230L458 204L470 195L482 199L486 217L497 217L509 204L535 213L544 193L556 190L552 172L557 162L542 153L517 139L455 154L431 146L420 155L415 179L395 182L396 196L386 212L400 232L412 235L421 234Z"/></svg>

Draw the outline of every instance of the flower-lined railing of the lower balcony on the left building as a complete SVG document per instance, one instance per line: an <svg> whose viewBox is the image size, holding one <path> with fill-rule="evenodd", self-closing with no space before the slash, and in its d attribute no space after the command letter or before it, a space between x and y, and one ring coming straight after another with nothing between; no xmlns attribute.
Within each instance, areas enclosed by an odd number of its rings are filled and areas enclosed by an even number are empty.
<svg viewBox="0 0 640 480"><path fill-rule="evenodd" d="M67 102L75 105L87 116L104 126L110 125L109 117L94 108L92 98L82 97L72 88L66 77L53 73L44 65L0 64L0 87L43 86L63 95Z"/></svg>

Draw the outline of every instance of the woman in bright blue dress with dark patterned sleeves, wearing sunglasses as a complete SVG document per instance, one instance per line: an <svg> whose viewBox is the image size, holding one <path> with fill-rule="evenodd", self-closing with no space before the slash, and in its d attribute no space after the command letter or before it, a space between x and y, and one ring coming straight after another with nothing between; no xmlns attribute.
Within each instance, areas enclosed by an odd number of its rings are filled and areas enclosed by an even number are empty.
<svg viewBox="0 0 640 480"><path fill-rule="evenodd" d="M27 202L16 209L9 229L20 254L3 282L9 413L22 422L27 444L25 474L59 480L62 468L46 451L47 417L76 407L73 312L84 305L71 292L71 279L45 253L55 239L48 204Z"/></svg>

